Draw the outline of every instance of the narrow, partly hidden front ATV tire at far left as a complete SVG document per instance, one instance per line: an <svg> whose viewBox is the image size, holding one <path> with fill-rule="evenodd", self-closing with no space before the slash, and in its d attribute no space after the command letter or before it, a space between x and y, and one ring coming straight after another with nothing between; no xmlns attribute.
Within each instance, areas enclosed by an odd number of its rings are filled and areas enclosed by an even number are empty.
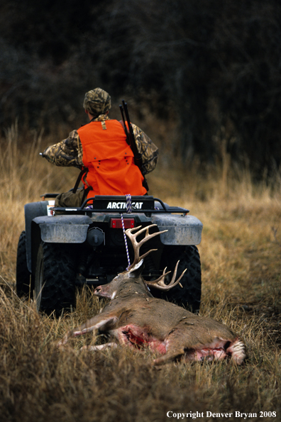
<svg viewBox="0 0 281 422"><path fill-rule="evenodd" d="M22 231L18 239L16 254L16 294L18 297L31 294L31 273L28 271L26 258L26 232Z"/></svg>

